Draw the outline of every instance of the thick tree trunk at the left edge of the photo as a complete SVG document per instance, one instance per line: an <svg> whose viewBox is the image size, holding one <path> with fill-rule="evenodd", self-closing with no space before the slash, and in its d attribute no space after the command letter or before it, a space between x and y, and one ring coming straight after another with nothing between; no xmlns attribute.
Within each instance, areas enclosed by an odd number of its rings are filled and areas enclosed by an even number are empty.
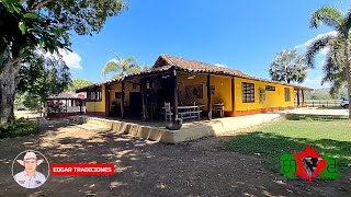
<svg viewBox="0 0 351 197"><path fill-rule="evenodd" d="M20 71L19 59L7 62L0 73L0 123L14 117L13 104L15 94L15 78Z"/></svg>

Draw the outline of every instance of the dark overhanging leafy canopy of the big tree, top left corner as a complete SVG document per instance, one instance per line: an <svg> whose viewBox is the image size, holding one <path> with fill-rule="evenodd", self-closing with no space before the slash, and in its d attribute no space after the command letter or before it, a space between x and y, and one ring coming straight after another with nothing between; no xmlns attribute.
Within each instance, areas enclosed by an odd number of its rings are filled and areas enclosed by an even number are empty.
<svg viewBox="0 0 351 197"><path fill-rule="evenodd" d="M13 57L22 48L39 45L47 51L70 46L69 33L99 33L110 16L118 15L127 5L122 0L1 0L0 51L11 46Z"/></svg>

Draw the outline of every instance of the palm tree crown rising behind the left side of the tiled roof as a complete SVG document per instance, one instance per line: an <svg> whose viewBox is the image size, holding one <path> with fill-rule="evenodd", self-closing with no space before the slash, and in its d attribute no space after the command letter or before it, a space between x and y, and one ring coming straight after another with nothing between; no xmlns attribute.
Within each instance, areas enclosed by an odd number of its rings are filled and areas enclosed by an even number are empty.
<svg viewBox="0 0 351 197"><path fill-rule="evenodd" d="M110 72L117 72L112 77L112 79L121 78L128 73L141 71L139 63L133 57L126 59L121 59L117 54L113 53L116 60L110 60L102 69L102 76L106 77Z"/></svg>

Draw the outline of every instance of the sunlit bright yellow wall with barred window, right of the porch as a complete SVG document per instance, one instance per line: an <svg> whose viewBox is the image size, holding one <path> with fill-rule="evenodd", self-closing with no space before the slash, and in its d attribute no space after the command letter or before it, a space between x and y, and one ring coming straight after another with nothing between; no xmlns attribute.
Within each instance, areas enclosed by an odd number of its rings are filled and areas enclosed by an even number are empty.
<svg viewBox="0 0 351 197"><path fill-rule="evenodd" d="M242 103L242 82L254 83L254 103ZM265 85L275 86L275 91L265 91L265 101L260 102L260 88L265 89ZM284 88L290 89L291 101L285 102ZM235 78L235 111L248 111L269 107L286 107L294 106L294 88L268 83L256 80Z"/></svg>

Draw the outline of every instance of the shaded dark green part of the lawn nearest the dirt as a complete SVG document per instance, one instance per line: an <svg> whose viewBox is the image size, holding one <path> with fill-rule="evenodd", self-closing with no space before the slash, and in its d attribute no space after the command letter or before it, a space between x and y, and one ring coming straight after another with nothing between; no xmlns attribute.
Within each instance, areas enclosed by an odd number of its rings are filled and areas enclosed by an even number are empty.
<svg viewBox="0 0 351 197"><path fill-rule="evenodd" d="M262 157L268 169L279 172L280 157L283 153L304 151L307 144L320 154L337 158L341 172L346 171L348 164L351 163L351 142L330 139L310 140L256 131L237 136L225 142L223 148L242 154Z"/></svg>

